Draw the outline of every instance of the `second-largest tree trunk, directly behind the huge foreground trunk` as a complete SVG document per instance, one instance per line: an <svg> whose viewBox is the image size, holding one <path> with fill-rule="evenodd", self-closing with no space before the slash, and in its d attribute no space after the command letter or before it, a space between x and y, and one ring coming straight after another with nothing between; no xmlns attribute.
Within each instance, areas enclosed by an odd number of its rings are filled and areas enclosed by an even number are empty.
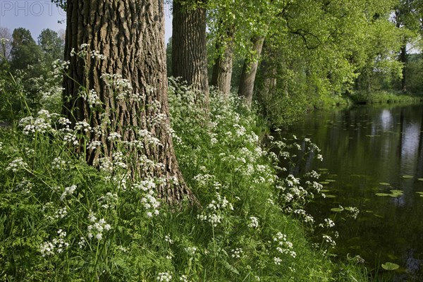
<svg viewBox="0 0 423 282"><path fill-rule="evenodd" d="M203 92L208 104L206 9L192 8L195 1L188 2L173 1L172 71L173 76Z"/></svg>

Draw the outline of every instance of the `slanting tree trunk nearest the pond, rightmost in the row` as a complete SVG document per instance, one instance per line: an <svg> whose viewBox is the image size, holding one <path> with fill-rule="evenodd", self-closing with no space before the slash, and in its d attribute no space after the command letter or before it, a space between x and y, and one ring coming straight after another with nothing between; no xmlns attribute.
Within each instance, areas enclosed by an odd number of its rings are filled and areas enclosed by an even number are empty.
<svg viewBox="0 0 423 282"><path fill-rule="evenodd" d="M257 73L258 58L262 53L264 37L254 37L252 39L252 48L255 51L256 59L245 59L243 72L241 73L240 86L238 88L238 94L244 97L247 105L251 105L252 92L254 90L255 76Z"/></svg>

